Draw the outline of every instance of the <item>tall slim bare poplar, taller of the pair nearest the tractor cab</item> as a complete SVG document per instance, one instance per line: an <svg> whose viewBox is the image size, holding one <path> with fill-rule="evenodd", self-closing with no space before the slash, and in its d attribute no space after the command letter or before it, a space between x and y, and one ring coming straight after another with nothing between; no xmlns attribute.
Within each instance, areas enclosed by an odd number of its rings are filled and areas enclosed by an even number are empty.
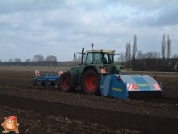
<svg viewBox="0 0 178 134"><path fill-rule="evenodd" d="M134 35L134 41L133 41L133 49L132 49L132 68L133 70L135 70L135 65L136 65L136 60L135 60L135 56L136 56L136 53L137 53L137 36Z"/></svg>

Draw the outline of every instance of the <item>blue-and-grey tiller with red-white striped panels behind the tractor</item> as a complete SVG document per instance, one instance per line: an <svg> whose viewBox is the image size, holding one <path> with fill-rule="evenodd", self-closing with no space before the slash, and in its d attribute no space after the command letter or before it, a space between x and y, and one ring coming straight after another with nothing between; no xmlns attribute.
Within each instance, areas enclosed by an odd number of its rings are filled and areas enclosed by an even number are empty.
<svg viewBox="0 0 178 134"><path fill-rule="evenodd" d="M132 98L140 96L162 96L162 84L148 75L108 74L100 81L100 92L103 96L114 98Z"/></svg>

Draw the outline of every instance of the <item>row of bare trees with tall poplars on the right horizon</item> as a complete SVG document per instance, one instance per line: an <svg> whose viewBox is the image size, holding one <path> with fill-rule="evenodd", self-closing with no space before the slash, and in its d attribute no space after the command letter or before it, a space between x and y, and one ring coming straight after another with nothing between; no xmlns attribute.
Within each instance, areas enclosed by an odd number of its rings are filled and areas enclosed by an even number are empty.
<svg viewBox="0 0 178 134"><path fill-rule="evenodd" d="M132 50L132 51L131 51ZM171 39L163 34L161 54L157 51L143 53L137 51L137 36L134 35L133 45L126 43L125 52L120 52L118 61L127 70L158 70L159 68L173 67L178 62L178 54L171 57Z"/></svg>

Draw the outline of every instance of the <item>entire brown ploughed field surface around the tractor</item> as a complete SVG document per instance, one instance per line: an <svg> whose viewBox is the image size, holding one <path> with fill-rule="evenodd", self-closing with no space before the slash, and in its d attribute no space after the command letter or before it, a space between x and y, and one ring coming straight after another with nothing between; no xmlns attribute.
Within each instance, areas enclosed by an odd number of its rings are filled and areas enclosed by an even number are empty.
<svg viewBox="0 0 178 134"><path fill-rule="evenodd" d="M20 133L178 133L176 73L127 72L156 75L163 83L163 98L122 100L85 95L80 89L65 93L60 88L32 88L36 69L57 75L67 68L0 67L0 123L15 115Z"/></svg>

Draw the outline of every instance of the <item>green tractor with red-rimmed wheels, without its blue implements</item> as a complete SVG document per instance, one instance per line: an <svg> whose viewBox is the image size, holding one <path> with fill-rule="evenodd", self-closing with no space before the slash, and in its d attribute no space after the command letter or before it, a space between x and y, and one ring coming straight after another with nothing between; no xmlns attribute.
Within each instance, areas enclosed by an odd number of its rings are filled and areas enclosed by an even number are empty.
<svg viewBox="0 0 178 134"><path fill-rule="evenodd" d="M103 75L120 73L120 67L114 63L115 50L92 49L84 53L83 48L80 54L81 64L61 75L60 87L63 91L69 92L80 85L86 94L97 95L100 93L100 79Z"/></svg>

